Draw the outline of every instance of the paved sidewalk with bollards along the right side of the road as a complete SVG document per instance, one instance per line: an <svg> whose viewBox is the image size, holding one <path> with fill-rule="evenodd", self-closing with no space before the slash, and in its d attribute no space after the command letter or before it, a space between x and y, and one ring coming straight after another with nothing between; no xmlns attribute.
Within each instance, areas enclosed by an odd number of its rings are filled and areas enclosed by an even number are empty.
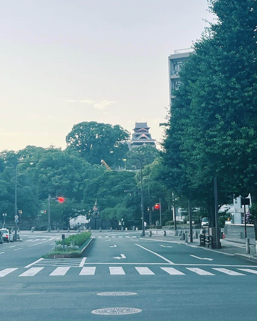
<svg viewBox="0 0 257 321"><path fill-rule="evenodd" d="M199 238L193 239L192 243L190 242L190 238L188 238L189 242L186 243L184 240L180 240L179 236L174 236L174 231L166 230L166 236L163 236L163 230L157 230L157 234L156 234L156 230L152 230L152 236L148 237L148 232L147 232L145 233L145 239L152 239L155 241L160 240L163 242L173 242L173 243L184 244L187 246L200 247ZM239 243L238 239L236 239L236 241L228 240L228 239L220 239L220 243L221 243L221 248L218 248L218 249L211 249L211 248L208 248L207 246L200 247L200 248L203 248L209 251L215 251L225 255L240 257L242 259L245 259L257 264L257 256L253 255L253 253L255 253L255 246L250 245L251 254L245 254L245 244L241 242Z"/></svg>

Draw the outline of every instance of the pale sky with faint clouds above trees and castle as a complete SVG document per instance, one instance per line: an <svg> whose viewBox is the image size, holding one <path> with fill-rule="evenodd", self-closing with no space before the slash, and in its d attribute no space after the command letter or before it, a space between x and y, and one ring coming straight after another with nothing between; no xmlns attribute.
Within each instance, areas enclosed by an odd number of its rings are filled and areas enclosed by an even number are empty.
<svg viewBox="0 0 257 321"><path fill-rule="evenodd" d="M147 121L169 105L168 56L213 21L207 0L1 1L0 151L65 148L82 121Z"/></svg>

